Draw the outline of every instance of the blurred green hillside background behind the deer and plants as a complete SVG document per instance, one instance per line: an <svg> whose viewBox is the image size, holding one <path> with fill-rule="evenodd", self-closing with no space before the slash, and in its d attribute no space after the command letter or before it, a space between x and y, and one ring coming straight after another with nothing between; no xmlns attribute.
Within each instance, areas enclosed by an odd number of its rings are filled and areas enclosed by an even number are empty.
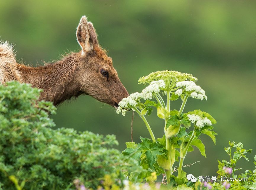
<svg viewBox="0 0 256 190"><path fill-rule="evenodd" d="M0 36L16 44L17 59L41 65L61 54L79 51L75 30L82 15L97 30L100 44L109 50L120 80L129 93L141 91L138 79L157 70L177 70L196 76L207 101L191 99L185 112L200 108L217 120L214 146L202 136L207 158L195 150L184 168L194 176L216 175L217 159L228 159L228 141L252 148L250 162L237 167L254 169L256 154L256 1L1 1ZM172 102L178 109L181 102ZM154 115L156 110L154 110ZM115 134L120 150L131 140L132 113L123 117L90 96L65 102L51 116L57 127L73 127L99 134ZM163 121L149 122L156 137ZM135 114L133 139L149 137Z"/></svg>

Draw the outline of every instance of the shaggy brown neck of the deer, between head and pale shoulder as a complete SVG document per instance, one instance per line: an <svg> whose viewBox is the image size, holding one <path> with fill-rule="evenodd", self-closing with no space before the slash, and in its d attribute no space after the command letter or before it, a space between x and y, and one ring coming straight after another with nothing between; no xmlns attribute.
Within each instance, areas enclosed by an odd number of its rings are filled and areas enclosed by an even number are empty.
<svg viewBox="0 0 256 190"><path fill-rule="evenodd" d="M58 105L82 94L75 79L78 60L78 54L73 53L53 64L40 67L18 65L17 68L22 82L44 90L39 100L52 101L54 105Z"/></svg>

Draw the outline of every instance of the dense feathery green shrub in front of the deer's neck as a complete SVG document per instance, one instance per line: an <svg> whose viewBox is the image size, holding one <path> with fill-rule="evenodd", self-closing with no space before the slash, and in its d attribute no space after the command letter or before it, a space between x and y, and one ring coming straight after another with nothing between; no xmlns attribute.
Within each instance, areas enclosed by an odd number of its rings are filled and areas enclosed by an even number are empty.
<svg viewBox="0 0 256 190"><path fill-rule="evenodd" d="M39 89L9 82L0 85L0 189L75 189L122 186L141 168L118 150L115 136L53 130L51 102L39 101ZM77 183L76 183L77 184Z"/></svg>

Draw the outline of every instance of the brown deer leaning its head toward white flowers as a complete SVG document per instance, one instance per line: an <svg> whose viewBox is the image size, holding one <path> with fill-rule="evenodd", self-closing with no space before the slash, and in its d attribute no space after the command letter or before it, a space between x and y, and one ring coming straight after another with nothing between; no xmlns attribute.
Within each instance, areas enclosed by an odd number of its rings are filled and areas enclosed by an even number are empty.
<svg viewBox="0 0 256 190"><path fill-rule="evenodd" d="M55 106L85 94L117 109L129 94L86 16L80 19L76 38L80 52L68 53L61 60L38 67L17 63L13 45L0 42L0 84L12 80L29 83L43 89L38 101L51 101Z"/></svg>

